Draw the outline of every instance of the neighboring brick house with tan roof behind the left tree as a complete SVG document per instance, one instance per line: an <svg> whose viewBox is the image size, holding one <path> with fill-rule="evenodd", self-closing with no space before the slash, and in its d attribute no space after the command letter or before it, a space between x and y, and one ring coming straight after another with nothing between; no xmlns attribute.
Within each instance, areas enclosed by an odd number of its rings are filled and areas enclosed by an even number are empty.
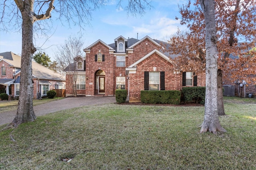
<svg viewBox="0 0 256 170"><path fill-rule="evenodd" d="M12 52L0 53L0 93L12 97L20 95L20 61L21 57ZM34 83L33 98L46 96L52 89L65 89L65 77L32 61Z"/></svg>

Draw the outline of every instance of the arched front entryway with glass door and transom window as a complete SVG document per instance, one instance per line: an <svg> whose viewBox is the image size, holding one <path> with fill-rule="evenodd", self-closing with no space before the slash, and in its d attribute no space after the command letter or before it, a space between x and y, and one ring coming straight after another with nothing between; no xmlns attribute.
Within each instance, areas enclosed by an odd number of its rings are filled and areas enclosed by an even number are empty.
<svg viewBox="0 0 256 170"><path fill-rule="evenodd" d="M105 72L98 70L95 72L95 94L105 94Z"/></svg>

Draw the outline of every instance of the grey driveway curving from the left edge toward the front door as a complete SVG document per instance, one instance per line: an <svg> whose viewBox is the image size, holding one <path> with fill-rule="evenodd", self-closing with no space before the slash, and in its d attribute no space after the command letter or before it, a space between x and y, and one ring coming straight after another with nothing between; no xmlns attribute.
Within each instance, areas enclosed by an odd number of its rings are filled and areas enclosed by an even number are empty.
<svg viewBox="0 0 256 170"><path fill-rule="evenodd" d="M46 115L55 111L71 109L74 107L99 105L106 103L115 103L115 96L97 96L97 97L77 97L77 98L64 98L53 102L40 104L34 106L36 116ZM11 123L16 115L17 110L7 111L0 113L0 125Z"/></svg>

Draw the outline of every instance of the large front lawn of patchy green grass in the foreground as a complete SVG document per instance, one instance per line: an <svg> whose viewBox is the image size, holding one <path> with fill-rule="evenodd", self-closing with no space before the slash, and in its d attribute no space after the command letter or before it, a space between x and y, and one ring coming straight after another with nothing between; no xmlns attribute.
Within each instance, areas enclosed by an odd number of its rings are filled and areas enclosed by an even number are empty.
<svg viewBox="0 0 256 170"><path fill-rule="evenodd" d="M104 104L44 115L0 132L0 169L255 170L256 100L234 100L224 98L227 132L217 135L199 133L203 106Z"/></svg>

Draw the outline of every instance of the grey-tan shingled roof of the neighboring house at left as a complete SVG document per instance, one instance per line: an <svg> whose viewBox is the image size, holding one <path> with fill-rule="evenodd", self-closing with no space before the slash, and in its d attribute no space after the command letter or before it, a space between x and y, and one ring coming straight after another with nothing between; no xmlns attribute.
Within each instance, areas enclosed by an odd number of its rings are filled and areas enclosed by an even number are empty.
<svg viewBox="0 0 256 170"><path fill-rule="evenodd" d="M3 56L4 58L2 60L6 61L7 63L10 63L10 66L21 68L21 57L19 55L16 55L12 52L5 52L0 53L0 56ZM32 61L32 75L34 78L44 80L65 81L66 79L65 76L62 76L61 74L56 73L53 70L50 70L45 66L42 66L41 64L38 64L34 61Z"/></svg>

